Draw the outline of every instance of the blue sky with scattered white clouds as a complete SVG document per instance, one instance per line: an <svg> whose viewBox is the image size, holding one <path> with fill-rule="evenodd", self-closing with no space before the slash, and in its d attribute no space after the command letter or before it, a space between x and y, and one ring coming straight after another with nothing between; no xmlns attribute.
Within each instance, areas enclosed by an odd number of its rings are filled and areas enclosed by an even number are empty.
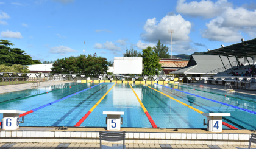
<svg viewBox="0 0 256 149"><path fill-rule="evenodd" d="M255 20L254 0L0 0L0 39L41 62L83 49L113 61L158 40L172 55L206 52L254 39Z"/></svg>

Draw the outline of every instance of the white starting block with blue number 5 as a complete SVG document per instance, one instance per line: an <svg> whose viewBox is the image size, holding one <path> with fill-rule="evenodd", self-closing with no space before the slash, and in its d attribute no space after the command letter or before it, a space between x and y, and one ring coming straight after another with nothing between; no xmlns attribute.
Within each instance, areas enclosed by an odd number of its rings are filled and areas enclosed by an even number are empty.
<svg viewBox="0 0 256 149"><path fill-rule="evenodd" d="M120 130L120 125L123 124L123 117L121 118L121 115L124 115L124 112L103 111L103 114L107 114L107 130Z"/></svg>

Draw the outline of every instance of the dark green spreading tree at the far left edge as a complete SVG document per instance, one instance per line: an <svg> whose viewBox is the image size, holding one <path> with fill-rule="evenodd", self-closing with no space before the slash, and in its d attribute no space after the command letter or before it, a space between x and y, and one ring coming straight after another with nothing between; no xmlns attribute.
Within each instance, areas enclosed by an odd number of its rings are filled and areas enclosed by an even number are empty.
<svg viewBox="0 0 256 149"><path fill-rule="evenodd" d="M10 43L9 40L0 40L0 64L5 64L6 66L12 66L13 64L41 64L38 60L32 60L24 50L10 48L9 46L13 46L13 43Z"/></svg>

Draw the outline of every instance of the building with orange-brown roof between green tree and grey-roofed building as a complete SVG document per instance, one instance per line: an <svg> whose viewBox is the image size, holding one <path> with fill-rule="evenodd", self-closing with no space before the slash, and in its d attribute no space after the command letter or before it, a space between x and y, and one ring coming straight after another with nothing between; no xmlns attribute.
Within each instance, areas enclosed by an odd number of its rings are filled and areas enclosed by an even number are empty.
<svg viewBox="0 0 256 149"><path fill-rule="evenodd" d="M176 71L180 68L187 66L188 60L182 59L165 59L162 58L159 63L161 64L161 68L163 69L160 74L170 74L172 71Z"/></svg>

